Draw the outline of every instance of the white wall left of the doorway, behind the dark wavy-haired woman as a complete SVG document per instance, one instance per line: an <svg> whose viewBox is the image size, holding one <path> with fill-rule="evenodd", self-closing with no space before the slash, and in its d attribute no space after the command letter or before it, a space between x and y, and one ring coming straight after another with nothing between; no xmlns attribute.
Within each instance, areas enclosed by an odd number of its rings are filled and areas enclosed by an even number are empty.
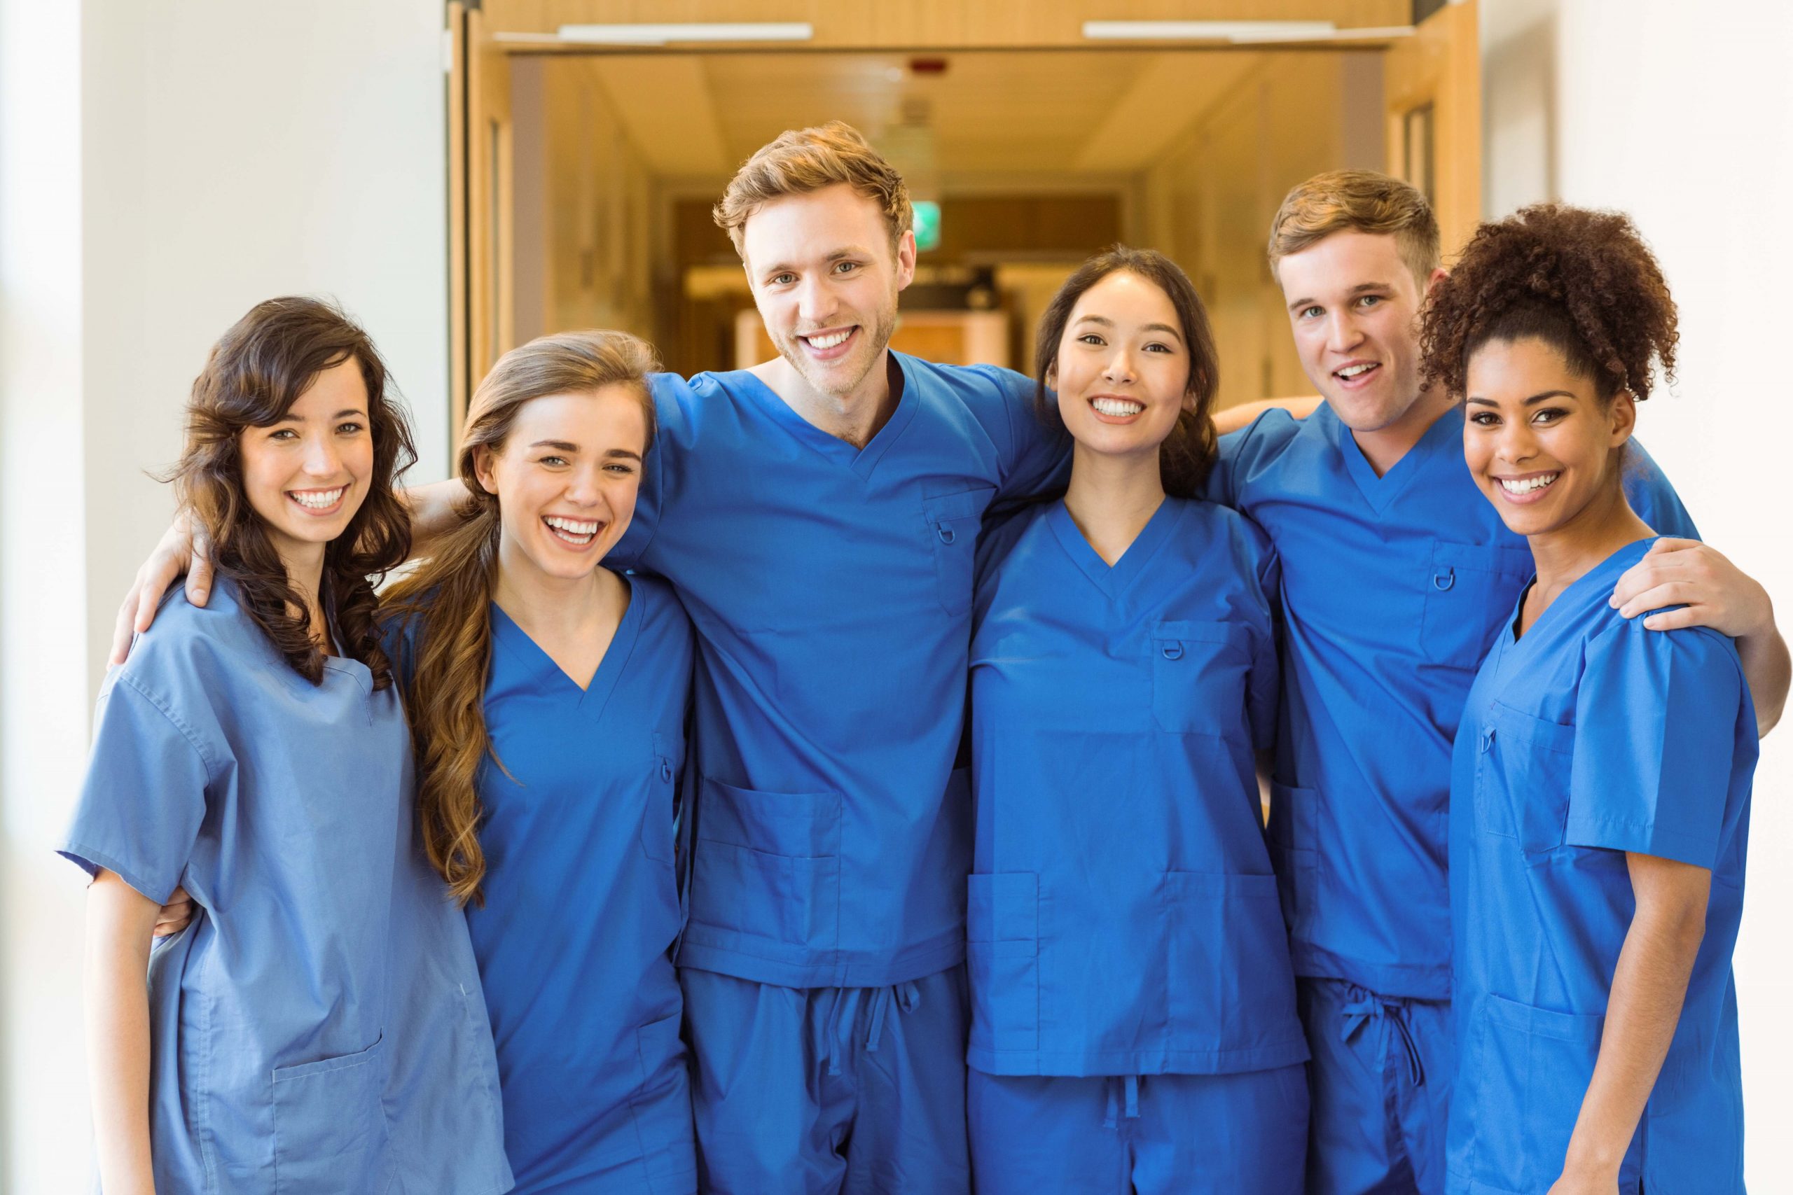
<svg viewBox="0 0 1793 1195"><path fill-rule="evenodd" d="M0 1191L81 1190L81 880L50 855L206 348L330 294L445 473L439 0L0 0Z"/></svg>

